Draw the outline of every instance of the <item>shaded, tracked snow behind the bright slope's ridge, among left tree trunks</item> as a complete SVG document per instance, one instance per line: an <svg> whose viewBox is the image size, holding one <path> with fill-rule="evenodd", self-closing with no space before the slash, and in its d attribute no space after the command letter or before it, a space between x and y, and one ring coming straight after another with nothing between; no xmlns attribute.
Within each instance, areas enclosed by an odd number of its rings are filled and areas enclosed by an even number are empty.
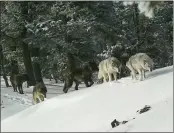
<svg viewBox="0 0 174 133"><path fill-rule="evenodd" d="M9 77L8 77L9 78ZM10 82L9 82L10 83ZM52 98L64 94L62 91L63 83L55 84L55 81L44 79L47 86L47 98ZM80 84L80 89L83 89L84 84ZM6 119L26 108L32 106L32 91L33 87L27 88L26 82L23 84L24 95L13 92L13 88L6 88L4 79L1 77L1 120ZM72 87L69 92L74 91Z"/></svg>

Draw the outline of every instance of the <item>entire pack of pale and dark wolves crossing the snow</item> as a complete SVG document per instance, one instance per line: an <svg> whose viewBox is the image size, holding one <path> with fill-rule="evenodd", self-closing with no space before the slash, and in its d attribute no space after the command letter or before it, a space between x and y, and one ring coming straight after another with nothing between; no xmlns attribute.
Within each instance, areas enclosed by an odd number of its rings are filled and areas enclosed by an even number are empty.
<svg viewBox="0 0 174 133"><path fill-rule="evenodd" d="M89 62L82 68L75 68L69 76L64 80L63 92L67 93L69 88L72 87L75 82L75 90L78 90L78 86L81 82L84 82L86 87L91 87L94 82L92 80L92 74L98 72L98 80L102 82L111 82L113 78L115 81L118 80L119 74L121 73L122 63L116 57L108 57L102 60L97 67L95 63ZM153 60L146 53L137 53L132 55L126 62L126 67L130 71L132 80L143 81L146 78L145 72L151 72L154 68ZM137 79L137 74L139 75ZM24 94L22 89L22 83L28 81L27 74L11 75L10 81L14 91L20 94ZM42 82L37 82L33 87L33 103L37 104L46 99L47 88Z"/></svg>

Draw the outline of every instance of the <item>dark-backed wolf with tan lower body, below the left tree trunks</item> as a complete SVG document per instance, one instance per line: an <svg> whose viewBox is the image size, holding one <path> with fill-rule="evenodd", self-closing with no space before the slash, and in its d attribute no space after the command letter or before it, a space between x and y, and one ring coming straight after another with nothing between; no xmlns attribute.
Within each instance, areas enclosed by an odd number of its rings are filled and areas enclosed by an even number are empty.
<svg viewBox="0 0 174 133"><path fill-rule="evenodd" d="M40 103L44 101L46 98L47 88L43 82L36 83L35 87L33 88L33 102L34 104Z"/></svg>

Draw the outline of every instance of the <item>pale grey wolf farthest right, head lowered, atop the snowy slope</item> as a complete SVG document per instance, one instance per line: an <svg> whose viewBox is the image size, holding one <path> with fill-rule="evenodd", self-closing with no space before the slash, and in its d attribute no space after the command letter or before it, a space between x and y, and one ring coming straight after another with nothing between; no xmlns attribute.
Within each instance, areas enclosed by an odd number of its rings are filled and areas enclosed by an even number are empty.
<svg viewBox="0 0 174 133"><path fill-rule="evenodd" d="M126 66L131 71L133 80L136 80L136 73L139 73L139 80L144 80L145 71L152 71L154 62L146 53L137 53L129 58Z"/></svg>

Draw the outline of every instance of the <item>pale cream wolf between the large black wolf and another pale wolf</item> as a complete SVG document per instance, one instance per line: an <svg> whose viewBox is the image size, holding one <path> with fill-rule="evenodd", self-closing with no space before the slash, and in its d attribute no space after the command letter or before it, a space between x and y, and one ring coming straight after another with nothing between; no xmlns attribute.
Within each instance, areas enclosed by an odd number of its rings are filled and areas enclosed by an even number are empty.
<svg viewBox="0 0 174 133"><path fill-rule="evenodd" d="M114 79L117 80L117 73L120 73L121 63L116 57L109 57L99 63L99 73L98 79L103 78L104 82L109 77L109 82L112 79L112 74Z"/></svg>

